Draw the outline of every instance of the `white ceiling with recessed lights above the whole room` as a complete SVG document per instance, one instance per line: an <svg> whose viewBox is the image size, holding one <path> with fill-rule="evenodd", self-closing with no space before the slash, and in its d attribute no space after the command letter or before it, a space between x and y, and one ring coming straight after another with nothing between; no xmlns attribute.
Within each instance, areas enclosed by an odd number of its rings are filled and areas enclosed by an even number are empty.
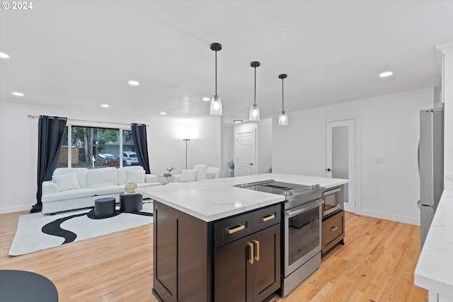
<svg viewBox="0 0 453 302"><path fill-rule="evenodd" d="M440 86L435 45L453 41L453 1L32 2L0 11L0 52L10 55L0 100L91 112L209 116L212 42L223 45L218 94L232 121L248 120L252 61L270 117L282 106L279 74L287 111Z"/></svg>

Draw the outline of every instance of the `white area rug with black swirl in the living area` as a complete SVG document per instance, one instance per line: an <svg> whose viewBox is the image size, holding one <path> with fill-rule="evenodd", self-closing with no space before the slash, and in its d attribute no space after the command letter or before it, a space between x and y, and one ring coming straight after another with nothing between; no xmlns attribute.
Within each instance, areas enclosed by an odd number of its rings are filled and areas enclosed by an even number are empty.
<svg viewBox="0 0 453 302"><path fill-rule="evenodd" d="M18 256L53 248L65 243L124 231L153 222L152 202L144 202L143 210L136 213L120 213L99 219L93 209L65 211L55 215L34 213L19 216L16 235L9 255Z"/></svg>

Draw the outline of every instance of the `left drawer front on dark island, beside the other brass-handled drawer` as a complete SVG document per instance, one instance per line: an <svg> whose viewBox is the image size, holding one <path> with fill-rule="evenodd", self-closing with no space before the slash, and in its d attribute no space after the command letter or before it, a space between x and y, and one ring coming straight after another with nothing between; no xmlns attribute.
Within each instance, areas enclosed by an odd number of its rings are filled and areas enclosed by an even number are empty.
<svg viewBox="0 0 453 302"><path fill-rule="evenodd" d="M214 247L218 248L253 233L252 221L253 214L248 213L214 223Z"/></svg>

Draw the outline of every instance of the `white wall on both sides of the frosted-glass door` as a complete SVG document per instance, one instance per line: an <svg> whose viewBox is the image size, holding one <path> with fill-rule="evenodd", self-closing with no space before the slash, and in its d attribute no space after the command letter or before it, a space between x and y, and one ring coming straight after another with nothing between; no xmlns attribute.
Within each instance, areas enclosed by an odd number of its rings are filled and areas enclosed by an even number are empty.
<svg viewBox="0 0 453 302"><path fill-rule="evenodd" d="M324 176L325 122L355 118L357 214L419 224L419 110L433 107L433 95L424 88L289 112L288 126L273 122L273 172Z"/></svg>

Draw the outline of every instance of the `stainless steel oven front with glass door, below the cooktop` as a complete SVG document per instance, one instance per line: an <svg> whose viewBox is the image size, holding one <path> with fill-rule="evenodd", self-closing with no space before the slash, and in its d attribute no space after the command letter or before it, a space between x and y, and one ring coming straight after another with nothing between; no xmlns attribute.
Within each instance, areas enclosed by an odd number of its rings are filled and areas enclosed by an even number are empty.
<svg viewBox="0 0 453 302"><path fill-rule="evenodd" d="M321 265L322 199L284 211L284 275L282 296Z"/></svg>

